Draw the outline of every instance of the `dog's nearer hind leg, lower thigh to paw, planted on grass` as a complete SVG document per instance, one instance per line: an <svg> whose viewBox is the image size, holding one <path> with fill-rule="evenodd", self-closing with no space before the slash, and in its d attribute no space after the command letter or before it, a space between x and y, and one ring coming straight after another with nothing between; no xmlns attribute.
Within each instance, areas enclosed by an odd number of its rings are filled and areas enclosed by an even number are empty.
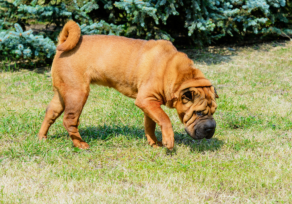
<svg viewBox="0 0 292 204"><path fill-rule="evenodd" d="M88 90L67 90L64 95L64 117L63 125L69 133L75 147L88 149L89 145L84 142L79 134L78 125L84 104L89 95Z"/></svg>

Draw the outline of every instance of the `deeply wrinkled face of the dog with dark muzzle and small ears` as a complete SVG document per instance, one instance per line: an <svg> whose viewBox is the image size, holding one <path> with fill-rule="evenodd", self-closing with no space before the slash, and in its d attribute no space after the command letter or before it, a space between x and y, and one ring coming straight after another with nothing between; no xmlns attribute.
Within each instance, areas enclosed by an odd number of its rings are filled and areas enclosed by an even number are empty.
<svg viewBox="0 0 292 204"><path fill-rule="evenodd" d="M213 86L190 87L180 91L176 109L185 131L194 139L213 137L216 122L213 114L218 98Z"/></svg>

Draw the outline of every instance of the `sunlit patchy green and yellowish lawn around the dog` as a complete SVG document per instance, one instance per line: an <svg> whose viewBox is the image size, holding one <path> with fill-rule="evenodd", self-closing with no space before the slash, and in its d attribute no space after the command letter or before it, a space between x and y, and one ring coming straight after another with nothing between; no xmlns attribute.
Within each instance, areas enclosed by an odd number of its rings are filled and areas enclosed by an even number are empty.
<svg viewBox="0 0 292 204"><path fill-rule="evenodd" d="M38 142L50 74L0 67L0 203L292 203L292 44L184 51L220 96L217 128L192 140L163 108L172 152L147 145L134 100L98 86L80 118L89 150L62 117Z"/></svg>

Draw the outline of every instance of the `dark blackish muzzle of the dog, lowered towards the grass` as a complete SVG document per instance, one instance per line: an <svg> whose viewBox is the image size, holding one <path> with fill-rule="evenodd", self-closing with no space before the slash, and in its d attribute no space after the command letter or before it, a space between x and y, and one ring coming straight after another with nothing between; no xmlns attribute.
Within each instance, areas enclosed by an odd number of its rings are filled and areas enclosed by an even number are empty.
<svg viewBox="0 0 292 204"><path fill-rule="evenodd" d="M215 128L216 128L216 122L214 119L203 119L199 121L196 125L193 127L185 127L185 131L187 134L189 134L193 139L199 140L199 139L210 139L213 137Z"/></svg>

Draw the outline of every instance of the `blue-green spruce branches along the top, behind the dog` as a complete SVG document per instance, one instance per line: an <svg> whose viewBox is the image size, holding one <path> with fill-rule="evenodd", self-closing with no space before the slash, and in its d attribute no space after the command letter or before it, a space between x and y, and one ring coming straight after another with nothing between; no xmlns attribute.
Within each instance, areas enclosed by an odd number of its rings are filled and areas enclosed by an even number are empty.
<svg viewBox="0 0 292 204"><path fill-rule="evenodd" d="M52 57L61 27L72 19L82 34L124 35L173 41L185 36L205 45L223 36L290 36L291 8L285 0L0 0L0 55ZM53 31L33 34L25 25Z"/></svg>

